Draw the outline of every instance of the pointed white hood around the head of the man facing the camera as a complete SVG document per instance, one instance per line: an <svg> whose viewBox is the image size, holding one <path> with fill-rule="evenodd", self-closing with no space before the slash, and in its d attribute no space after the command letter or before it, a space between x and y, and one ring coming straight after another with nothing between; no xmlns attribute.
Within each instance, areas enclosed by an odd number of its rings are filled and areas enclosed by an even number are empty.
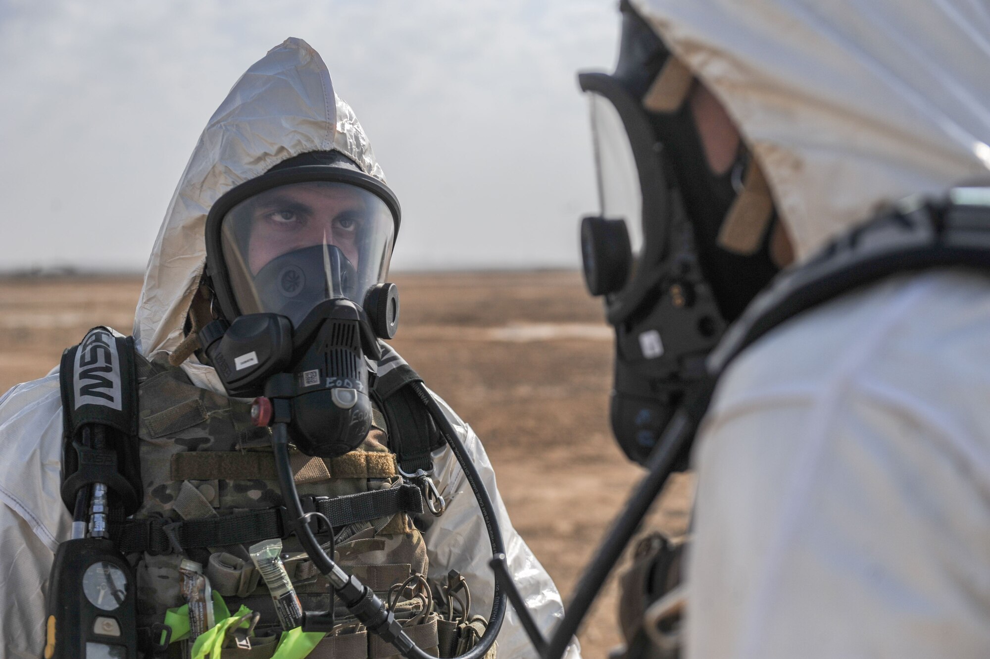
<svg viewBox="0 0 990 659"><path fill-rule="evenodd" d="M207 123L175 188L154 241L134 320L147 357L182 340L189 305L206 265L206 216L224 193L282 160L338 150L384 182L361 125L337 94L320 53L287 39L247 69ZM223 393L216 371L190 357L183 368Z"/></svg>

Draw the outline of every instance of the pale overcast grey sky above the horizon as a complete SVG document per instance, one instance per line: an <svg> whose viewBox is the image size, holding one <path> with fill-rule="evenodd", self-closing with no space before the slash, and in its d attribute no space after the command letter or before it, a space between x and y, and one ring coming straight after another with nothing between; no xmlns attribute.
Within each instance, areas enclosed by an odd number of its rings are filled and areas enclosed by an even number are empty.
<svg viewBox="0 0 990 659"><path fill-rule="evenodd" d="M207 119L265 51L323 55L403 206L393 269L578 264L580 68L614 0L0 0L0 270L144 269Z"/></svg>

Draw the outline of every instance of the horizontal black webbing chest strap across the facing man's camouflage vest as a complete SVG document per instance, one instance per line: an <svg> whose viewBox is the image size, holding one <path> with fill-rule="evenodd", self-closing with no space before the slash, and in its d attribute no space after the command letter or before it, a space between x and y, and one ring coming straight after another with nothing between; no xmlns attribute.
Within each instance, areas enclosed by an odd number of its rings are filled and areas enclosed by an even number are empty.
<svg viewBox="0 0 990 659"><path fill-rule="evenodd" d="M398 513L423 513L423 497L415 485L361 492L343 497L304 497L304 509L316 511L335 527ZM185 549L228 544L253 544L292 531L284 508L235 513L216 518L173 521L166 518L111 524L111 536L125 554L148 551L167 554Z"/></svg>

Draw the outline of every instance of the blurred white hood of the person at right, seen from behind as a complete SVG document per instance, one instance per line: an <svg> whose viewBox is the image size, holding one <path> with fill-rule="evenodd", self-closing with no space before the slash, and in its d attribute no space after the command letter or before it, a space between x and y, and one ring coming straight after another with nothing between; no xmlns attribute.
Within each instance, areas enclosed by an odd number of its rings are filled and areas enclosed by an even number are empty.
<svg viewBox="0 0 990 659"><path fill-rule="evenodd" d="M723 102L807 258L878 206L990 168L990 9L633 0Z"/></svg>

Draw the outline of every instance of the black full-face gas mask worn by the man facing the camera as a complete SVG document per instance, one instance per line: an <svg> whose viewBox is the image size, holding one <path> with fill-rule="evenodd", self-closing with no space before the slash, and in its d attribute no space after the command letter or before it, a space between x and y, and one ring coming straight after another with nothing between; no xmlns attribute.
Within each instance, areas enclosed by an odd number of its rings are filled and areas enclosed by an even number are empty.
<svg viewBox="0 0 990 659"><path fill-rule="evenodd" d="M399 317L396 287L383 283L399 217L391 190L336 151L280 163L210 210L220 318L200 343L229 395L291 404L308 455L347 453L370 428L378 338Z"/></svg>

